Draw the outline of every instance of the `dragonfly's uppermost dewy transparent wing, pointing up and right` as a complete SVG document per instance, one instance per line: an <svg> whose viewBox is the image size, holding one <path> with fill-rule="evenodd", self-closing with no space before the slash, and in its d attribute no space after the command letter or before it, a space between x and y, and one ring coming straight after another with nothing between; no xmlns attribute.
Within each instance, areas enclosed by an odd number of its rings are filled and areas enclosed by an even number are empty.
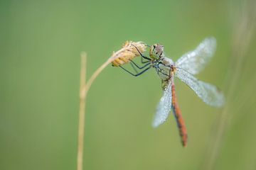
<svg viewBox="0 0 256 170"><path fill-rule="evenodd" d="M210 58L213 56L215 49L215 38L206 38L195 50L187 52L185 55L181 56L176 62L176 67L185 69L191 74L198 74L198 72L204 69Z"/></svg>

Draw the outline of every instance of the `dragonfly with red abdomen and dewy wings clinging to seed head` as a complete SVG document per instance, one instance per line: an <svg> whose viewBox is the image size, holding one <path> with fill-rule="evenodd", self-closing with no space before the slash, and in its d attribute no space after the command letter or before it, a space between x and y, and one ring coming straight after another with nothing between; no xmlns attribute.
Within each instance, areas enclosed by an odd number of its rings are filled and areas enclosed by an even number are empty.
<svg viewBox="0 0 256 170"><path fill-rule="evenodd" d="M213 57L216 49L215 38L208 37L204 39L194 50L186 52L176 62L164 55L163 45L154 44L149 46L149 57L140 52L135 45L134 47L142 57L142 64L144 65L139 66L139 64L135 62L131 62L136 73L130 72L128 69L122 67L121 64L119 67L124 69L125 72L132 74L134 77L143 74L150 68L156 70L156 73L161 79L163 96L156 106L152 126L156 128L164 123L172 110L176 118L179 135L181 136L181 143L183 147L186 147L188 135L176 98L174 78L177 77L183 81L183 83L190 87L196 95L209 106L217 108L223 106L225 101L223 93L216 86L201 81L194 76L201 72L210 61L210 58ZM139 69L139 72L136 68Z"/></svg>

